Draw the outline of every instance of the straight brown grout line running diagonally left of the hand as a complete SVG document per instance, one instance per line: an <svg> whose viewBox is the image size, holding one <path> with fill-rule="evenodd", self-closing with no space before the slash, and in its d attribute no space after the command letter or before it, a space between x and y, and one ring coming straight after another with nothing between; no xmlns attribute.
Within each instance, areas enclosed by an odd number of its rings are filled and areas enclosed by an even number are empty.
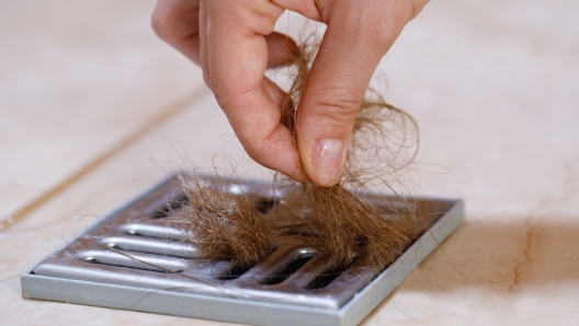
<svg viewBox="0 0 579 326"><path fill-rule="evenodd" d="M189 104L194 103L198 101L201 97L209 94L209 91L205 86L201 86L196 89L194 92L191 92L180 98L179 101L175 101L173 104L169 105L167 108L162 109L157 115L152 116L150 119L146 120L144 124L139 124L138 127L136 127L134 130L132 130L127 136L121 139L116 144L114 144L109 150L102 152L99 154L92 162L86 164L84 166L81 166L77 172L73 172L70 176L66 177L64 181L58 183L56 186L49 188L48 190L44 191L42 195L37 196L33 200L25 203L20 209L16 209L13 213L9 214L8 217L0 218L0 233L2 231L5 231L10 229L11 225L15 224L18 221L22 220L39 207L42 207L44 203L46 203L48 200L57 196L58 194L66 190L68 187L72 186L75 183L83 178L86 175L88 175L90 172L95 170L96 167L101 166L103 163L112 159L114 155L116 155L122 150L126 149L130 144L133 144L138 139L146 136L151 127L158 127L172 118L173 116L178 115L182 110L184 110Z"/></svg>

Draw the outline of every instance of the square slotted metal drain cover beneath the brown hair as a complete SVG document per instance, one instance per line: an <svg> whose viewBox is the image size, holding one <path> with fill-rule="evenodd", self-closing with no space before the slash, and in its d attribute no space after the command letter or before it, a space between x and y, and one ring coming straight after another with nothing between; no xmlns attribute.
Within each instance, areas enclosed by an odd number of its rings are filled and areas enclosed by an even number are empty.
<svg viewBox="0 0 579 326"><path fill-rule="evenodd" d="M271 184L235 185L224 190L249 194L260 209L274 206ZM373 196L378 205L407 207L393 197ZM184 231L166 219L168 205L179 209L183 198L179 178L162 182L22 275L22 295L254 325L355 325L464 214L462 200L409 200L429 232L385 270L365 257L333 270L304 234L279 238L269 257L240 270L226 261L195 259L195 248L181 241Z"/></svg>

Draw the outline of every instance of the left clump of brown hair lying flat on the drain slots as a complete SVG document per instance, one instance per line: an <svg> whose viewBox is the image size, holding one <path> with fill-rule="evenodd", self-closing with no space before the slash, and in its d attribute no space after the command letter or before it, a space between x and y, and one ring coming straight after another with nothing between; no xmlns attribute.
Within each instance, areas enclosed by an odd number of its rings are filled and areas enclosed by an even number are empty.
<svg viewBox="0 0 579 326"><path fill-rule="evenodd" d="M185 230L185 241L194 245L197 256L249 267L271 253L270 221L242 193L224 191L236 186L230 179L217 177L208 184L192 174L182 183L186 205L170 219Z"/></svg>

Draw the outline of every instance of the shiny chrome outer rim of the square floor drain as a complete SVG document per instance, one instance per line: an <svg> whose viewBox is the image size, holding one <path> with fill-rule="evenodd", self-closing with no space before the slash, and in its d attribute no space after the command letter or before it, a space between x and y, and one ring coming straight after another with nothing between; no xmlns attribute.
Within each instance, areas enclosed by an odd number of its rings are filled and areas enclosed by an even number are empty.
<svg viewBox="0 0 579 326"><path fill-rule="evenodd" d="M155 189L167 183L161 183ZM155 189L111 213L109 218L152 194ZM252 325L356 325L436 248L438 243L443 242L461 224L464 216L462 200L424 200L445 202L449 208L395 263L339 308L256 301L251 300L250 295L228 298L48 277L33 273L34 268L21 276L22 295L30 299ZM106 222L109 218L103 221ZM87 233L100 225L102 223Z"/></svg>

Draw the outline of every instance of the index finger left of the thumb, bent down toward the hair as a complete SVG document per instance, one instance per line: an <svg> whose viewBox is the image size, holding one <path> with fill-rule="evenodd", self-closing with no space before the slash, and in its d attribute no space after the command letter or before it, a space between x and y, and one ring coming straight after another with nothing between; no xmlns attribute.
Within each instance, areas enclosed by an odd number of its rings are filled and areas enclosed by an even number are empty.
<svg viewBox="0 0 579 326"><path fill-rule="evenodd" d="M205 1L207 80L248 154L262 165L299 178L293 135L281 124L281 109L264 78L268 44L284 9L270 1ZM205 49L203 49L205 47ZM275 90L276 89L276 90Z"/></svg>

